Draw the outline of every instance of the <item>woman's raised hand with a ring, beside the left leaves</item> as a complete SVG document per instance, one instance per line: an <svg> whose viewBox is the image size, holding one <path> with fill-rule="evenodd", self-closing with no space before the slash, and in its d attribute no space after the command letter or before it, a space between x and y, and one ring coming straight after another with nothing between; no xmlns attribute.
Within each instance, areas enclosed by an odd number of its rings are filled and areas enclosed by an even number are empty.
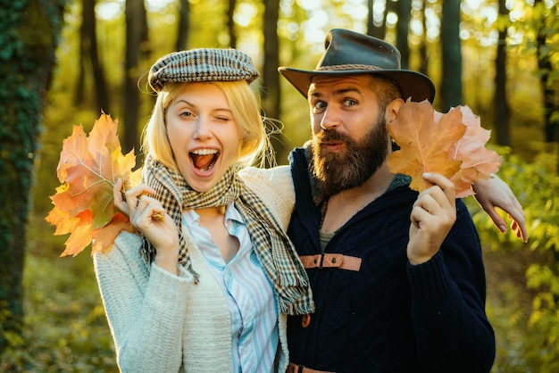
<svg viewBox="0 0 559 373"><path fill-rule="evenodd" d="M122 180L113 187L114 205L129 216L137 228L155 248L155 264L171 273L177 273L179 261L179 231L163 208L163 204L150 197L155 191L145 184L133 187L122 196Z"/></svg>

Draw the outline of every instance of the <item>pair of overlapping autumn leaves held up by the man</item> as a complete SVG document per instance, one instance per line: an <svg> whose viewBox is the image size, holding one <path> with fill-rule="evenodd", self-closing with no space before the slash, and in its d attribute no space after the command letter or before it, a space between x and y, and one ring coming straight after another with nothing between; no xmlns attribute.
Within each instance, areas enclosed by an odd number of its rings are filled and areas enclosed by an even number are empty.
<svg viewBox="0 0 559 373"><path fill-rule="evenodd" d="M472 195L471 185L490 178L501 164L501 157L485 147L490 131L481 127L480 117L468 106L443 114L433 110L428 101L408 100L387 128L401 147L388 156L388 167L411 176L413 190L421 192L429 187L421 177L429 171L450 178L456 197Z"/></svg>

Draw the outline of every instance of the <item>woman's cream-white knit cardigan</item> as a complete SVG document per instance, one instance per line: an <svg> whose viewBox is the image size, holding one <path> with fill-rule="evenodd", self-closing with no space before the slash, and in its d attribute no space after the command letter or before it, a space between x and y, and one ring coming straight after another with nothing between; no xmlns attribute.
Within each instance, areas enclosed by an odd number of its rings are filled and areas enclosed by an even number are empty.
<svg viewBox="0 0 559 373"><path fill-rule="evenodd" d="M295 203L288 166L239 172L246 185L287 228ZM179 265L179 276L146 264L138 235L121 233L107 253L93 261L104 310L122 372L230 372L229 310L202 253L188 248L192 276ZM287 317L280 314L276 371L288 365Z"/></svg>

